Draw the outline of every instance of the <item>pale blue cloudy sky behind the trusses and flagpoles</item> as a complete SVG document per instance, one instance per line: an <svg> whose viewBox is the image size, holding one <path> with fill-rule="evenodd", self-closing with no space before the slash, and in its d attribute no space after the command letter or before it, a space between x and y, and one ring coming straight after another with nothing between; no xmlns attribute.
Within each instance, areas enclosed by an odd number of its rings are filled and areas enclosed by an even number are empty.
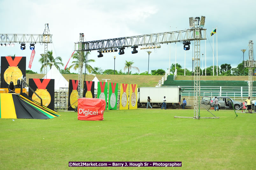
<svg viewBox="0 0 256 170"><path fill-rule="evenodd" d="M248 42L256 41L255 1L67 1L67 0L0 0L1 34L42 34L46 23L49 23L50 34L53 34L53 44L48 50L53 55L60 56L66 65L74 51L74 43L79 41L79 33L84 33L85 41L111 39L125 36L136 36L150 33L184 30L189 28L189 17L205 16L206 66L213 65L212 27L218 32L218 65L228 63L236 67L243 60L241 49L247 49L245 60L248 59ZM214 35L214 50L216 65L216 35ZM137 54L131 54L132 49L125 49L124 55L106 53L97 58L98 53L92 51L89 59L96 62L92 67L114 69L124 68L124 62L133 61L139 67L140 73L148 69L148 54L138 49ZM44 46L36 44L35 58L31 70L39 73L38 63ZM205 54L205 40L201 41L201 54ZM20 45L15 47L0 47L0 56L26 56L26 69L31 50L26 44L25 50ZM150 54L149 70L169 67L175 62L175 43L163 44L160 49ZM205 56L205 55L204 55ZM192 70L192 50L186 52L186 68ZM204 59L205 60L205 59ZM72 61L72 60L71 60ZM70 66L71 64L68 64ZM184 68L184 50L177 43L177 63ZM202 64L201 64L202 67ZM203 66L205 67L205 66ZM63 67L64 68L64 67ZM48 69L49 70L49 69ZM71 70L71 72L77 72ZM137 72L132 70L132 73ZM150 71L149 71L150 72Z"/></svg>

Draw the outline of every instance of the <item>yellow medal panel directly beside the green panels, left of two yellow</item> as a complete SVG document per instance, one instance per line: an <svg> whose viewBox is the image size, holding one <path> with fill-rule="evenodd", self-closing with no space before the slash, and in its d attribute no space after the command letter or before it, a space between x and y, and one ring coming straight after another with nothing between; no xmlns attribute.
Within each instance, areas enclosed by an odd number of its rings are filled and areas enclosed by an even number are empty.
<svg viewBox="0 0 256 170"><path fill-rule="evenodd" d="M129 84L121 84L119 110L128 109Z"/></svg>

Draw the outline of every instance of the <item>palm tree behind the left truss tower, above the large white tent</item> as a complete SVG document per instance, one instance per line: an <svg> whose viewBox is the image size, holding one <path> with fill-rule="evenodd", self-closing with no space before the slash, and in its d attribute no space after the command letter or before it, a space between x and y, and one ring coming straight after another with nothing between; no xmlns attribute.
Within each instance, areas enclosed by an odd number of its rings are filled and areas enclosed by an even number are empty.
<svg viewBox="0 0 256 170"><path fill-rule="evenodd" d="M42 73L43 68L44 68L44 54L40 54L42 57L38 60L41 64L42 67L40 68L40 72ZM54 64L52 64L54 63ZM64 66L64 64L62 63L62 59L60 56L54 58L53 57L53 51L47 51L47 66L50 66L50 69L52 68L52 66L55 66L58 70L60 70L59 65Z"/></svg>

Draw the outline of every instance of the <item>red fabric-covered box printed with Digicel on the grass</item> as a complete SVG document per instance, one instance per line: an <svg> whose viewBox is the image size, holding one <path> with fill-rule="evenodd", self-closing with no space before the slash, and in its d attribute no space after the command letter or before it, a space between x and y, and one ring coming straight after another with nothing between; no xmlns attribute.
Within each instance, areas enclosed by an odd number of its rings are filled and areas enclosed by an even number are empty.
<svg viewBox="0 0 256 170"><path fill-rule="evenodd" d="M77 105L78 120L103 120L106 102L103 99L79 98Z"/></svg>

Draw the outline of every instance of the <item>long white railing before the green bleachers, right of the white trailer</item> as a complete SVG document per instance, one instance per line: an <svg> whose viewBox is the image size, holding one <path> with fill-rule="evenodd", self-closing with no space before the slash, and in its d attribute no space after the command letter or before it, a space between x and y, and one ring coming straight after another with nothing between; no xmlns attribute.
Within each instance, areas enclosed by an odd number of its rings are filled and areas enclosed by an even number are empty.
<svg viewBox="0 0 256 170"><path fill-rule="evenodd" d="M174 86L172 86L174 87ZM178 86L175 86L178 87ZM181 89L184 89L181 94L186 96L188 99L194 98L194 86L180 86ZM253 87L252 96L253 100L256 99L256 87ZM248 98L248 87L224 87L224 86L201 86L200 87L200 97L203 96L228 96L234 100L245 100Z"/></svg>

